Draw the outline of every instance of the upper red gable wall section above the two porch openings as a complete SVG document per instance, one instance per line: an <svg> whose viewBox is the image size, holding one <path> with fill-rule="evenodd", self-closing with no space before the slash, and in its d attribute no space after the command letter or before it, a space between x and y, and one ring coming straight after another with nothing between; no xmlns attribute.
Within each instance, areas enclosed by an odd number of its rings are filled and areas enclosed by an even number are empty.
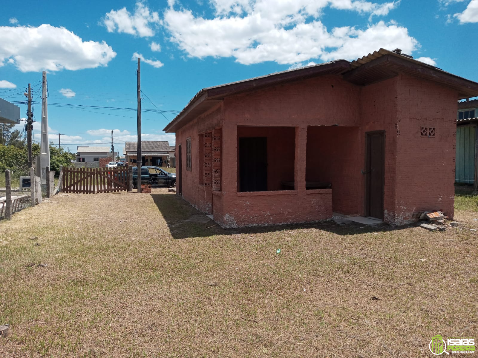
<svg viewBox="0 0 478 358"><path fill-rule="evenodd" d="M360 88L327 75L224 99L224 116L238 126L358 126Z"/></svg>

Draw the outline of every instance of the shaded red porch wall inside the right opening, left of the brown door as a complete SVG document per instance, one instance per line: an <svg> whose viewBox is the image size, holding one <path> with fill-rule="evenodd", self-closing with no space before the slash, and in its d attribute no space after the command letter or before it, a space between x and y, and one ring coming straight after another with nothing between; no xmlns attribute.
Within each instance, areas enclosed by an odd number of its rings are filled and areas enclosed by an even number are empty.
<svg viewBox="0 0 478 358"><path fill-rule="evenodd" d="M309 126L306 181L332 184L333 211L359 213L359 127Z"/></svg>

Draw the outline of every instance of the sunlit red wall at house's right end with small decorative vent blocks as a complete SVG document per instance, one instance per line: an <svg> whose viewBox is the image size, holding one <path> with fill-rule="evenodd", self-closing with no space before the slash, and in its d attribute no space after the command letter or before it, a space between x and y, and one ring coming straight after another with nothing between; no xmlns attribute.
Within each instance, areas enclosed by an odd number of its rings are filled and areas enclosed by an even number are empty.
<svg viewBox="0 0 478 358"><path fill-rule="evenodd" d="M395 223L440 210L453 218L456 91L409 76L397 81ZM435 128L422 136L422 128Z"/></svg>

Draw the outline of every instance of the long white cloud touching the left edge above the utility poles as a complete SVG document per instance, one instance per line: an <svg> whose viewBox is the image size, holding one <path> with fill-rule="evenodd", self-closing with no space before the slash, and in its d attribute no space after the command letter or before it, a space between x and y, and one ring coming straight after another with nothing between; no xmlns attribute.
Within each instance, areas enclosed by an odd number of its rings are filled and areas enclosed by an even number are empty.
<svg viewBox="0 0 478 358"><path fill-rule="evenodd" d="M0 66L20 71L80 70L107 66L116 53L106 42L83 41L64 27L0 26Z"/></svg>

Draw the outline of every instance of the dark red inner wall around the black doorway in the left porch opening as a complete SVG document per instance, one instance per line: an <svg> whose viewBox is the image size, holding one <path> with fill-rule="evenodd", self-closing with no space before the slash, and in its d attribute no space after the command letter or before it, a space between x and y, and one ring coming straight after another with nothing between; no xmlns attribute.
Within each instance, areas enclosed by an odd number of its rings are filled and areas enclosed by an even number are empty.
<svg viewBox="0 0 478 358"><path fill-rule="evenodd" d="M238 127L241 137L267 138L267 190L282 190L281 181L294 180L294 127Z"/></svg>

